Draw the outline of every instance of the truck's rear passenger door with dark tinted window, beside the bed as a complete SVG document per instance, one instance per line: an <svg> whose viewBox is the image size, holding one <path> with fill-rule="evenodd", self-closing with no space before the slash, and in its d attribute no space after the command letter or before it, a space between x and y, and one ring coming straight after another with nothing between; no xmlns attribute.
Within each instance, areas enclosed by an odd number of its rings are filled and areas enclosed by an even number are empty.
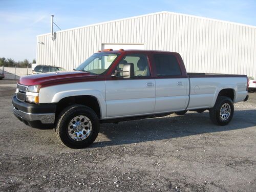
<svg viewBox="0 0 256 192"><path fill-rule="evenodd" d="M172 54L154 54L156 71L155 112L185 110L188 103L189 81L184 76L178 58Z"/></svg>

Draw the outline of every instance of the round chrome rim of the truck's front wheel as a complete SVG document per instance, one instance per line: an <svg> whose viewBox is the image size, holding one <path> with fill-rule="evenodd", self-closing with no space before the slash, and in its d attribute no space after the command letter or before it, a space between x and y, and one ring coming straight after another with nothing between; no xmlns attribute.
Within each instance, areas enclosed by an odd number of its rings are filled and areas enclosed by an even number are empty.
<svg viewBox="0 0 256 192"><path fill-rule="evenodd" d="M68 134L75 141L82 141L89 137L92 132L92 122L84 115L78 115L71 119Z"/></svg>

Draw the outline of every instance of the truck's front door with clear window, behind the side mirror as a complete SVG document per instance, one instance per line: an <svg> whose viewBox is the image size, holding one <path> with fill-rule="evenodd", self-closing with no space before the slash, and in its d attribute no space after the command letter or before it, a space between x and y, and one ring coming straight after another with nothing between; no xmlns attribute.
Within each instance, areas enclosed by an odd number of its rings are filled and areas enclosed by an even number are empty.
<svg viewBox="0 0 256 192"><path fill-rule="evenodd" d="M118 63L122 70L125 63L134 65L134 78L112 77L106 80L107 117L136 116L154 112L155 79L144 54L127 54Z"/></svg>

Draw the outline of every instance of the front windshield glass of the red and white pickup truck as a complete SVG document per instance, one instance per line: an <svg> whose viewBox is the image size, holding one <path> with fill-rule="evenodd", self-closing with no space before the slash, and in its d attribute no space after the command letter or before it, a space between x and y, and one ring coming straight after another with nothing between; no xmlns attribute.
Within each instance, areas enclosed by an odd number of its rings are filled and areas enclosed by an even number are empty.
<svg viewBox="0 0 256 192"><path fill-rule="evenodd" d="M102 74L112 65L118 55L116 53L105 52L95 53L82 62L75 70L86 71L92 74Z"/></svg>

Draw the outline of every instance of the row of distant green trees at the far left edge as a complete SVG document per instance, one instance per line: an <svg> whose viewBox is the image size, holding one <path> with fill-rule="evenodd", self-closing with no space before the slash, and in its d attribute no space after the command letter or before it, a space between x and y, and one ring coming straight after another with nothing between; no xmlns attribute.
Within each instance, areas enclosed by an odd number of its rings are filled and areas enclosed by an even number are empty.
<svg viewBox="0 0 256 192"><path fill-rule="evenodd" d="M17 67L17 68L31 68L31 64L36 63L36 60L33 59L32 62L29 62L28 59L24 59L23 61L14 61L12 58L0 57L0 67Z"/></svg>

